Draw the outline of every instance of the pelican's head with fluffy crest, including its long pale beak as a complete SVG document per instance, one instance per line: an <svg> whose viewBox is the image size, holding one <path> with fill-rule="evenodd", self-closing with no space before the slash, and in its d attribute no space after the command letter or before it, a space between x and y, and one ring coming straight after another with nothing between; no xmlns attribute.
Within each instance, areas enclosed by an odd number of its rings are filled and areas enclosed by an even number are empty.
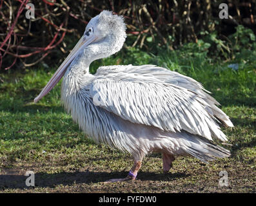
<svg viewBox="0 0 256 206"><path fill-rule="evenodd" d="M126 39L125 31L126 25L123 17L113 15L110 11L104 10L101 14L92 18L87 24L81 39L59 66L41 93L34 99L34 102L38 102L54 88L79 53L86 51L84 55L88 55L88 65L90 65L95 59L108 57L113 53L119 52Z"/></svg>

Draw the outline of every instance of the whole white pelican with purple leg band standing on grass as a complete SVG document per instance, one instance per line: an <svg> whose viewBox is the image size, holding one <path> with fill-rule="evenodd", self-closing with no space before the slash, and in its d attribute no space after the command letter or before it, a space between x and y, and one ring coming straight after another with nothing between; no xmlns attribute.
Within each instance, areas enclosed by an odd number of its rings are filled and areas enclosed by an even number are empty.
<svg viewBox="0 0 256 206"><path fill-rule="evenodd" d="M154 65L101 66L89 73L93 61L119 52L125 39L122 16L104 10L92 18L34 102L63 77L64 108L86 136L133 156L128 176L109 182L135 180L148 153L162 153L165 173L177 155L206 163L230 156L213 140L227 141L219 124L233 124L196 80Z"/></svg>

